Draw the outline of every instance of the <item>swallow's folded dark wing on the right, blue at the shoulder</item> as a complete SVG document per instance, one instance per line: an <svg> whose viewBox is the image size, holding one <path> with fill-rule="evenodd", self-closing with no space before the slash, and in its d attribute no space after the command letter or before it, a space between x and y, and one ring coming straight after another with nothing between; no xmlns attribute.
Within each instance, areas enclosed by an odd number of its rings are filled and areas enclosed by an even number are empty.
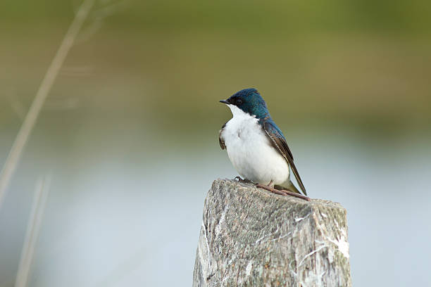
<svg viewBox="0 0 431 287"><path fill-rule="evenodd" d="M290 168L292 169L292 172L295 175L296 181L298 181L298 184L301 187L302 192L305 195L307 195L305 186L302 183L301 177L299 177L298 170L296 170L295 164L293 162L292 152L290 151L289 146L287 146L285 136L283 136L280 129L277 127L277 125L275 125L274 122L272 122L272 120L266 120L265 122L263 122L263 129L265 130L266 134L268 135L268 138L270 139L270 141L273 143L273 146L287 160Z"/></svg>

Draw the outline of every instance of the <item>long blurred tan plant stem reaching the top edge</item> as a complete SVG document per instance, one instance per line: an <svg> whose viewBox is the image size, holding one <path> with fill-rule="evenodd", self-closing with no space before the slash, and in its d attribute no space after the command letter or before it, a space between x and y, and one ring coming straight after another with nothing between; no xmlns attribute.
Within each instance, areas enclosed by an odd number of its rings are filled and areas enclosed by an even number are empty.
<svg viewBox="0 0 431 287"><path fill-rule="evenodd" d="M75 15L75 18L73 19L73 22L70 24L70 27L60 44L60 47L58 48L58 51L56 52L56 55L51 62L51 65L49 65L49 68L46 71L44 79L37 90L35 99L33 100L27 115L25 115L23 125L21 125L15 141L13 141L11 151L9 151L8 158L6 158L6 162L4 163L3 169L0 173L0 208L4 202L6 191L16 170L21 154L23 153L25 144L27 144L32 129L35 127L37 117L44 106L46 97L48 96L49 91L51 91L58 72L64 63L66 56L68 56L70 48L72 48L75 38L80 32L82 24L84 24L89 11L94 5L94 2L95 0L84 0L82 2Z"/></svg>

